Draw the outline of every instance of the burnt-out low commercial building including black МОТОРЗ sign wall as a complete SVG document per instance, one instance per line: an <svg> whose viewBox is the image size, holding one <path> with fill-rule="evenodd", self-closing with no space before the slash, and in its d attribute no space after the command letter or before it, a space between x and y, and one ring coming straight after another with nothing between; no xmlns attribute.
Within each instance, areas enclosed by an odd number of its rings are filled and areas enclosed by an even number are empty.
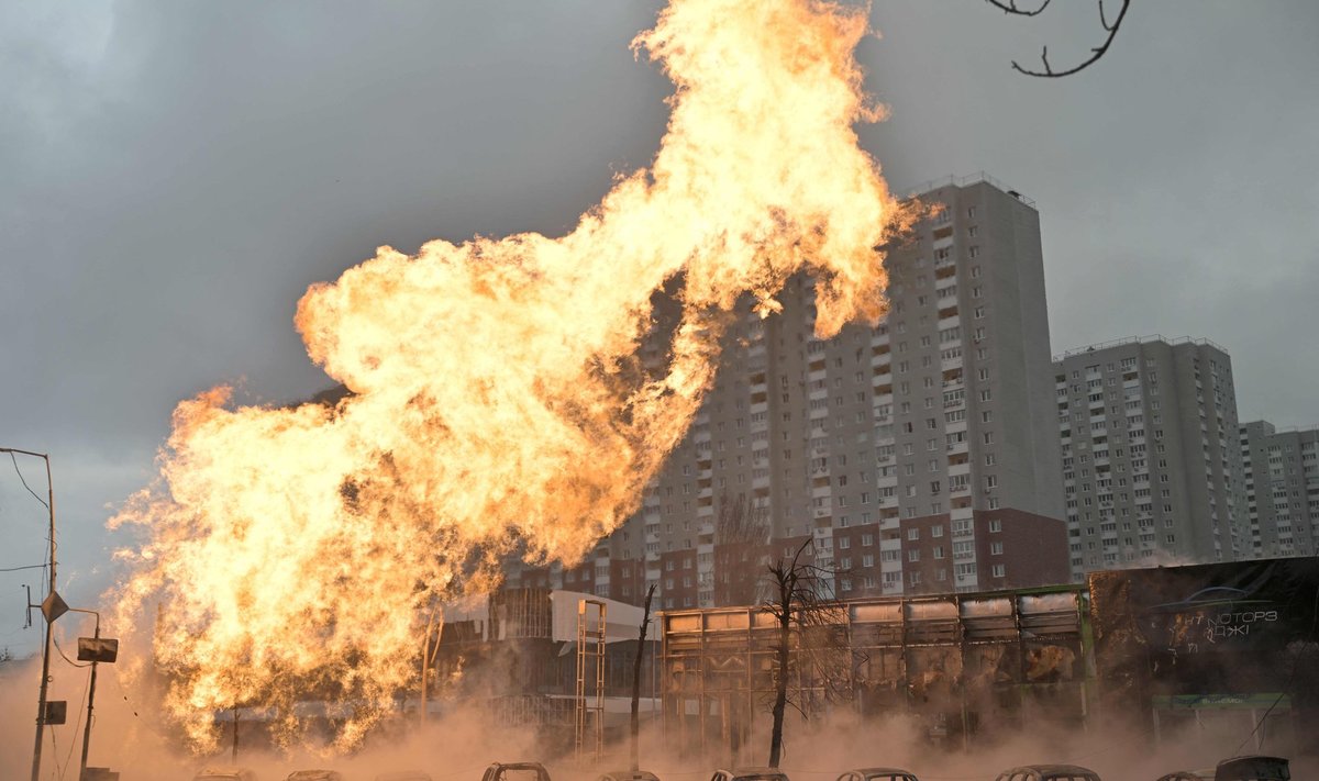
<svg viewBox="0 0 1319 781"><path fill-rule="evenodd" d="M1319 756L1319 558L1093 573L1086 586L840 603L793 636L805 714L905 716L969 747L1031 726L1194 726ZM670 748L733 760L769 723L776 627L760 607L666 611ZM753 749L758 748L758 743Z"/></svg>

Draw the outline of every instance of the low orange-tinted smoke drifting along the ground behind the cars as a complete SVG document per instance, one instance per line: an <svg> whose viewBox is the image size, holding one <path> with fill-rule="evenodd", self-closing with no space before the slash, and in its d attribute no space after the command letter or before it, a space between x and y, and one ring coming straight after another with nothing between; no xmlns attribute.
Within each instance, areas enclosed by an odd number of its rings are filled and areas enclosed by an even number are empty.
<svg viewBox="0 0 1319 781"><path fill-rule="evenodd" d="M55 657L61 666L66 662ZM25 778L30 772L40 660L9 662L0 670L0 777ZM77 778L86 670L58 669L51 699L69 704L69 723L46 730L42 748L42 778ZM190 780L206 766L232 765L232 747L212 756L187 752L182 735L173 734L145 710L133 693L120 687L113 670L102 669L96 693L90 764L120 770L123 781ZM282 781L297 769L336 769L348 781L372 781L396 770L423 770L435 781L479 781L492 761L543 761L555 781L587 781L603 770L628 766L628 745L611 740L594 766L574 761L571 741L546 740L546 731L532 726L501 726L483 706L471 701L443 702L443 712L426 724L415 714L380 730L361 751L332 757L319 747L290 752L256 748L251 735L240 732L237 765L256 772L262 781ZM769 753L769 735L762 719L741 747L736 763L762 765ZM732 761L721 751L707 756L679 751L657 722L648 722L641 736L642 768L663 781L702 781L714 769ZM861 719L851 712L805 720L791 714L785 727L782 768L793 781L832 781L851 768L896 765L923 780L992 780L998 770L1021 764L1071 763L1088 766L1107 781L1154 781L1163 773L1211 766L1217 760L1253 751L1249 735L1225 735L1191 727L1163 735L1155 747L1149 735L1122 724L1086 730L1031 724L993 744L971 748L935 745L925 727L904 716ZM1264 745L1269 749L1268 743ZM1294 757L1293 777L1307 778L1319 770L1310 760Z"/></svg>

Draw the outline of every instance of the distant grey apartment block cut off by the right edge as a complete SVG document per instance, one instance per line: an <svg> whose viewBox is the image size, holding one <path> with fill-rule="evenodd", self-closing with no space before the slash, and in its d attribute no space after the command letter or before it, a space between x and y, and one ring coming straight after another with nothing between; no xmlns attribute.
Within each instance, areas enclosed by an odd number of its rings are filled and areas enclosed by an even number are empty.
<svg viewBox="0 0 1319 781"><path fill-rule="evenodd" d="M1319 553L1319 427L1241 425L1250 557Z"/></svg>

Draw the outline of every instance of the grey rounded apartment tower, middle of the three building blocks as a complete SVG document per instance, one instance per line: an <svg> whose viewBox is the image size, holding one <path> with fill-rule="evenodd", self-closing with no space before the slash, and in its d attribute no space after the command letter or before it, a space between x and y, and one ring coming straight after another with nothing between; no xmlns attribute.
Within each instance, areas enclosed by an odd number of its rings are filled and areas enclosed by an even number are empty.
<svg viewBox="0 0 1319 781"><path fill-rule="evenodd" d="M1054 375L1074 579L1249 558L1232 360L1221 347L1124 339L1057 358Z"/></svg>

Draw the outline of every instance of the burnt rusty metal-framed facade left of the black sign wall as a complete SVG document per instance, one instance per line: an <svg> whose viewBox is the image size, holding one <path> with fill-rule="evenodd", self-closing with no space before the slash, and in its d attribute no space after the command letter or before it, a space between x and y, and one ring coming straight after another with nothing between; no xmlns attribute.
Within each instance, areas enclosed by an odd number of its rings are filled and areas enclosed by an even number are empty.
<svg viewBox="0 0 1319 781"><path fill-rule="evenodd" d="M1083 722L1095 665L1079 587L844 603L831 625L794 632L793 702L904 712L964 743L1000 726ZM765 609L666 611L663 716L683 749L736 760L774 691Z"/></svg>

